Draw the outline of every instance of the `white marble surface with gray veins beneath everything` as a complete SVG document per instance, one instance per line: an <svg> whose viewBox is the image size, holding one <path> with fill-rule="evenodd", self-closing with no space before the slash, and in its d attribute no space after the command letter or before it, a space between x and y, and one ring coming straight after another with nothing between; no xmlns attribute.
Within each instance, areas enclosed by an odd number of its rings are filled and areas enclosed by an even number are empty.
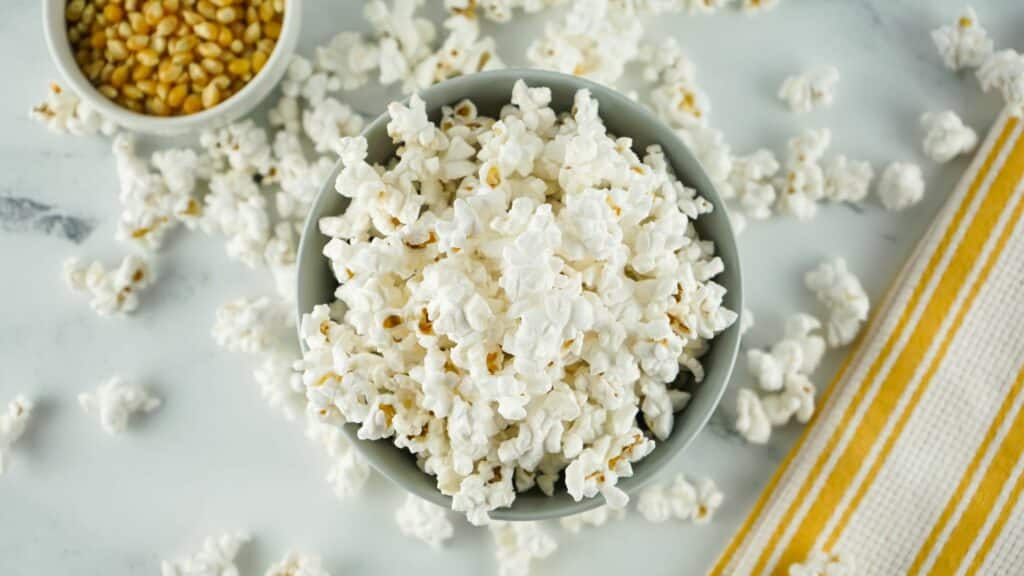
<svg viewBox="0 0 1024 576"><path fill-rule="evenodd" d="M361 28L356 2L306 0L303 47L337 30ZM997 45L1024 48L1024 9L976 0ZM984 130L997 101L970 77L944 70L928 37L952 19L957 0L783 0L746 18L658 17L650 36L679 38L714 101L713 123L739 151L781 150L802 127L827 126L834 151L873 161L923 162L924 203L902 214L876 204L827 207L812 223L777 220L741 238L749 304L759 323L749 345L768 343L784 317L815 310L801 275L820 257L845 255L879 299L934 216L966 161L937 168L920 152L919 115L952 108ZM271 413L250 377L250 359L218 351L213 312L227 299L268 293L268 282L228 261L214 239L178 234L161 255L162 281L128 321L96 318L59 282L70 255L113 259L117 184L109 145L58 138L25 114L55 70L46 54L36 0L6 0L0 20L6 82L0 102L0 401L26 393L38 418L0 479L0 573L6 576L155 574L159 560L197 548L205 535L247 529L255 543L244 574L261 574L297 546L324 554L336 575L486 574L489 537L460 525L443 552L407 540L392 513L401 492L375 478L358 501L340 503L326 463L300 427ZM523 61L542 16L492 27L506 61ZM1014 44L1016 40L1016 45ZM795 117L774 98L781 79L805 66L843 74L834 110ZM378 112L378 94L352 98ZM842 360L831 354L820 385ZM743 370L732 389L745 380ZM114 373L156 388L164 407L121 438L103 436L79 410L77 393ZM652 526L638 516L580 535L559 533L559 551L536 574L698 574L742 522L798 430L768 447L727 431L730 392L711 427L672 466L713 477L727 495L715 522Z"/></svg>

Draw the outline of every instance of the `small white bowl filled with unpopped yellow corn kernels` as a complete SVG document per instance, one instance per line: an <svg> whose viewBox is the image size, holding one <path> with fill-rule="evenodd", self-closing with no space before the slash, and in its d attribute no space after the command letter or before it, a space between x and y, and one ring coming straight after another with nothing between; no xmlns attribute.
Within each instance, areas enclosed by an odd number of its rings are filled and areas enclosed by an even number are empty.
<svg viewBox="0 0 1024 576"><path fill-rule="evenodd" d="M301 0L45 0L50 54L71 88L130 130L226 124L278 84Z"/></svg>

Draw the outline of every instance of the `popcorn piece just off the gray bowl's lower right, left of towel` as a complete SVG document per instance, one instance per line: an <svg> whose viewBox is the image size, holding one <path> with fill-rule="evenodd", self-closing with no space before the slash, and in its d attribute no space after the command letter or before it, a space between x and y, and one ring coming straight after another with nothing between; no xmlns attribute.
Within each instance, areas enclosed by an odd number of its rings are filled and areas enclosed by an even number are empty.
<svg viewBox="0 0 1024 576"><path fill-rule="evenodd" d="M668 486L655 484L644 490L637 501L637 510L644 520L655 524L672 519L707 524L723 499L722 492L710 478L694 486L680 474Z"/></svg>

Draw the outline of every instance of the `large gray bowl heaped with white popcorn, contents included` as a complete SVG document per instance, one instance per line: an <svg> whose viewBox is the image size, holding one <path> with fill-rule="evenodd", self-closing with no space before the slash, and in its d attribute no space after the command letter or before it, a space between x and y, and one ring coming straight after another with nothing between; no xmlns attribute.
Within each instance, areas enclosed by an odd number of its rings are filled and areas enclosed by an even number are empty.
<svg viewBox="0 0 1024 576"><path fill-rule="evenodd" d="M739 345L721 200L672 130L579 78L450 80L358 137L299 248L310 412L470 522L624 506Z"/></svg>

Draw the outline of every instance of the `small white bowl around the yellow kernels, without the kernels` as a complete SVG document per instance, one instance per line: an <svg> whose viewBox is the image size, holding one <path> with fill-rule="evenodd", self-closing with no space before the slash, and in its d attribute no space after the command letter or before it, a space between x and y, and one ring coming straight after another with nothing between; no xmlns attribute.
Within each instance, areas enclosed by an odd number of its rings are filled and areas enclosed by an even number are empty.
<svg viewBox="0 0 1024 576"><path fill-rule="evenodd" d="M78 67L68 40L65 20L67 0L43 1L43 31L50 56L65 80L83 100L118 126L136 132L174 135L223 126L238 120L256 108L273 90L288 71L288 65L299 41L302 26L302 0L285 0L285 16L281 37L263 70L229 98L211 108L187 116L159 117L138 114L119 106L99 93Z"/></svg>

